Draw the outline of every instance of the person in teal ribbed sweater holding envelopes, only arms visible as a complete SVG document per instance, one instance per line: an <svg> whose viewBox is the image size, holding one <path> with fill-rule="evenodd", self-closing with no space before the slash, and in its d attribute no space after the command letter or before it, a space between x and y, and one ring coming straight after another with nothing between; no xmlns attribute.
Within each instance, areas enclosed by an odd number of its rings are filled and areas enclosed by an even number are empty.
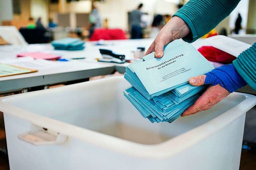
<svg viewBox="0 0 256 170"><path fill-rule="evenodd" d="M180 8L161 29L145 55L155 51L155 57L164 55L164 45L182 38L189 43L196 41L224 20L240 0L190 0ZM192 77L188 82L193 86L211 86L188 107L182 116L192 115L223 100L238 88L249 84L256 90L256 43L242 52L232 64L215 68L201 76Z"/></svg>

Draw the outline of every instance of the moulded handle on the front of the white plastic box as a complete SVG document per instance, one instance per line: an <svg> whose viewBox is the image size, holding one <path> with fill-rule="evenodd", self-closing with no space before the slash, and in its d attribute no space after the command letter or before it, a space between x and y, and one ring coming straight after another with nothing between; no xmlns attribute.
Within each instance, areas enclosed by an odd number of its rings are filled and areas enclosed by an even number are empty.
<svg viewBox="0 0 256 170"><path fill-rule="evenodd" d="M18 138L33 145L54 145L68 139L65 135L37 125L32 125L30 131L18 135Z"/></svg>

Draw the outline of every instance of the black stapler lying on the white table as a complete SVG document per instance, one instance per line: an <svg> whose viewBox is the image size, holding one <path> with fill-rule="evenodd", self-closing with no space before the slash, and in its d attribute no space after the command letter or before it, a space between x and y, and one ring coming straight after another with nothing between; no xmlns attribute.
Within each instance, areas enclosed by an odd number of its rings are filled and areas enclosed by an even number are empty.
<svg viewBox="0 0 256 170"><path fill-rule="evenodd" d="M125 55L119 55L113 53L111 50L100 49L100 54L102 55L102 59L98 59L98 61L109 62L109 63L125 63Z"/></svg>

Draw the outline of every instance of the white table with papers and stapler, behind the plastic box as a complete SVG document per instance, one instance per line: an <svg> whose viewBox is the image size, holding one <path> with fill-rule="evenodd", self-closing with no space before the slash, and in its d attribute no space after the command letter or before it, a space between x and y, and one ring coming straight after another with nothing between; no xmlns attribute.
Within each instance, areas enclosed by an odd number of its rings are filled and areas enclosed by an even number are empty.
<svg viewBox="0 0 256 170"><path fill-rule="evenodd" d="M27 46L8 45L0 47L1 59L16 59L18 53L24 52L45 52L59 54L64 59L81 58L86 59L70 60L63 62L62 66L38 70L35 73L20 74L0 78L0 92L20 90L23 88L42 86L48 84L57 84L72 80L90 78L92 76L107 75L118 70L125 72L125 64L97 62L95 59L100 58L99 49L110 49L115 53L126 55L131 58L132 51L137 47L147 49L152 39L138 40L115 40L108 41L108 45L95 45L96 42L86 42L86 48L82 51L60 51L54 50L50 44L35 44Z"/></svg>

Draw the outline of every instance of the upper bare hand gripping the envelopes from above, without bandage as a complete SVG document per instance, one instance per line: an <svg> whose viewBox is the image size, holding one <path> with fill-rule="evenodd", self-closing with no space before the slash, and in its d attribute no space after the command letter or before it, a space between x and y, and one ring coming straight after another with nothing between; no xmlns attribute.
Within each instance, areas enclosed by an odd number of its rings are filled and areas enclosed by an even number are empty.
<svg viewBox="0 0 256 170"><path fill-rule="evenodd" d="M163 57L164 45L174 41L175 39L185 37L188 33L190 33L188 25L181 18L174 16L158 33L156 39L150 45L145 55L155 51L156 58Z"/></svg>

